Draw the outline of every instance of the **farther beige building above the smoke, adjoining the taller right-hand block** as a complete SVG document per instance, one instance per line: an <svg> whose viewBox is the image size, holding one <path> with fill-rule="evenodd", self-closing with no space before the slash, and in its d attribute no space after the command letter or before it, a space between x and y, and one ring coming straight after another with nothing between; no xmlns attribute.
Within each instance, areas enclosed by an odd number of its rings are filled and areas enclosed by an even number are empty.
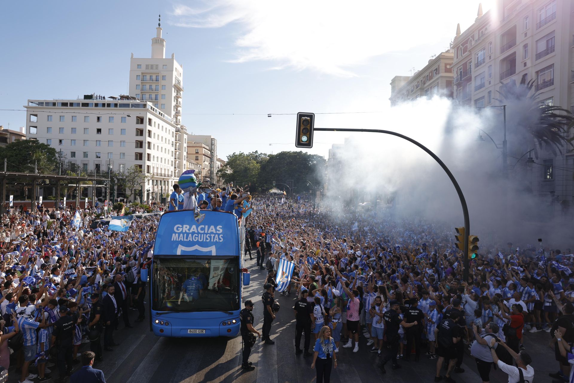
<svg viewBox="0 0 574 383"><path fill-rule="evenodd" d="M453 52L448 50L428 61L428 64L412 76L395 76L391 80L391 106L419 97L441 95L452 98Z"/></svg>

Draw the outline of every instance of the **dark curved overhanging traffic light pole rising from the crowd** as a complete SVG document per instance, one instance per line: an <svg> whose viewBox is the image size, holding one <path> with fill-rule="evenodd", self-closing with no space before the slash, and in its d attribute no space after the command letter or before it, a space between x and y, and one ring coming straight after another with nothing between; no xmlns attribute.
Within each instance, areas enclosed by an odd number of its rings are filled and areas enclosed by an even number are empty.
<svg viewBox="0 0 574 383"><path fill-rule="evenodd" d="M314 131L363 131L366 133L383 133L383 134L390 134L391 136L400 137L406 141L412 142L414 145L417 145L419 148L424 150L426 153L429 154L430 157L434 158L434 160L439 163L440 167L443 168L444 172L447 173L449 179L451 179L452 184L454 185L457 194L459 195L460 205L463 208L463 215L464 215L464 254L463 254L463 279L465 282L468 281L468 234L470 233L470 218L468 217L468 207L466 204L466 199L464 199L463 191L460 189L459 183L456 181L455 176L452 175L451 171L447 168L447 165L443 163L443 161L429 148L422 145L420 142L413 140L410 137L404 136L403 134L397 133L395 131L390 130L381 130L381 129L334 129L330 127L316 127L313 129Z"/></svg>

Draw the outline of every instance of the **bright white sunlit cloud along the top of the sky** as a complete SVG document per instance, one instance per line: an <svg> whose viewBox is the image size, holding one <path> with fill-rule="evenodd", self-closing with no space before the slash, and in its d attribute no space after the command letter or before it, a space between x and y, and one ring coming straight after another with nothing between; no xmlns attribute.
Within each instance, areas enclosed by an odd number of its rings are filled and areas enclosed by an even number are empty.
<svg viewBox="0 0 574 383"><path fill-rule="evenodd" d="M474 21L478 9L478 2L442 7L423 0L210 0L196 4L174 6L174 25L238 25L238 52L231 61L263 60L272 62L273 69L314 69L343 77L356 76L354 67L383 53L441 40L448 44L458 19L472 17Z"/></svg>

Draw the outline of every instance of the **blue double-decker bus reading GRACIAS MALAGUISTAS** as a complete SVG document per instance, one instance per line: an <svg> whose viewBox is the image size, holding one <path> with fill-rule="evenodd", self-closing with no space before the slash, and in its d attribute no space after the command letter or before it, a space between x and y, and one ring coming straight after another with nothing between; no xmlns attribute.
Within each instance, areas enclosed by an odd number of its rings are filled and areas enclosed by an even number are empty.
<svg viewBox="0 0 574 383"><path fill-rule="evenodd" d="M235 336L242 308L245 228L234 214L201 210L161 216L150 277L158 336ZM198 222L199 221L199 222Z"/></svg>

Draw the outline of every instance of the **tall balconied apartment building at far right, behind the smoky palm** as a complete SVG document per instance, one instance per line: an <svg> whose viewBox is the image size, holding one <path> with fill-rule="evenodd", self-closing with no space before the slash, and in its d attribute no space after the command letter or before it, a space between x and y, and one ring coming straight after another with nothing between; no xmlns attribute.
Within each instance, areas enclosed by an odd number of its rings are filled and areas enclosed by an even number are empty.
<svg viewBox="0 0 574 383"><path fill-rule="evenodd" d="M538 100L574 113L574 3L567 0L499 0L464 32L457 26L453 93L461 105L494 106L501 83L534 80ZM569 137L574 137L573 132ZM533 144L534 145L534 144ZM534 147L534 146L533 146ZM574 209L574 152L554 156L540 148L533 191L569 214ZM566 209L568 210L568 209Z"/></svg>

